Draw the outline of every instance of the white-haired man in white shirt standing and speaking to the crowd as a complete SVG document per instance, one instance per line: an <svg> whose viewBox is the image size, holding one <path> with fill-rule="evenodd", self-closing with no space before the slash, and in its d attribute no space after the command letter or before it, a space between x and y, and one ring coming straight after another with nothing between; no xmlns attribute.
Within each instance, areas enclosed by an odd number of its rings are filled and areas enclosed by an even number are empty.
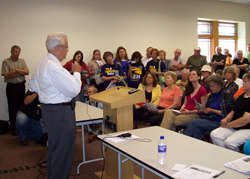
<svg viewBox="0 0 250 179"><path fill-rule="evenodd" d="M72 65L73 75L61 66L68 52L68 38L63 33L49 34L48 54L38 63L33 75L42 103L42 118L48 130L48 178L66 179L70 176L75 146L74 101L81 89L81 66Z"/></svg>

